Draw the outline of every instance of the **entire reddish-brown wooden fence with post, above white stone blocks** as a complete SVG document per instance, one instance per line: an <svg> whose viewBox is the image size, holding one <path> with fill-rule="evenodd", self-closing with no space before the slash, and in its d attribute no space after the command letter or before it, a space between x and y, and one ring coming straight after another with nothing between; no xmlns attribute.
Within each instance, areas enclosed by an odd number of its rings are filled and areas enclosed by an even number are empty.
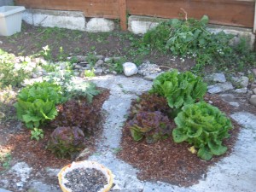
<svg viewBox="0 0 256 192"><path fill-rule="evenodd" d="M253 28L255 0L15 0L28 9L79 10L85 17L119 19L126 29L126 16L146 15L161 18L208 15L210 23ZM182 10L183 9L183 10Z"/></svg>

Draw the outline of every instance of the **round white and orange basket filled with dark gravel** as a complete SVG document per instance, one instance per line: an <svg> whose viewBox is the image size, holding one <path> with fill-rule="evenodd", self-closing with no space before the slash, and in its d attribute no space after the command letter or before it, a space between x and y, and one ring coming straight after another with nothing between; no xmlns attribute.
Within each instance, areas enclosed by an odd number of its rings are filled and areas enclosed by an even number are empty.
<svg viewBox="0 0 256 192"><path fill-rule="evenodd" d="M64 166L58 179L63 192L108 192L113 184L112 172L90 160Z"/></svg>

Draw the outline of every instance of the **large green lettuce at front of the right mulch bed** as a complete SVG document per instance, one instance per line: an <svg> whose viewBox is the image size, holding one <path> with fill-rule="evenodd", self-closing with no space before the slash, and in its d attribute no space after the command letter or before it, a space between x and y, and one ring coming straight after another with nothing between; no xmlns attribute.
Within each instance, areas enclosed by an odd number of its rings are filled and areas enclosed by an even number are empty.
<svg viewBox="0 0 256 192"><path fill-rule="evenodd" d="M197 155L202 160L211 160L213 155L227 151L222 142L230 136L231 121L207 102L185 105L177 114L175 123L177 128L172 131L174 142L188 142L199 148Z"/></svg>

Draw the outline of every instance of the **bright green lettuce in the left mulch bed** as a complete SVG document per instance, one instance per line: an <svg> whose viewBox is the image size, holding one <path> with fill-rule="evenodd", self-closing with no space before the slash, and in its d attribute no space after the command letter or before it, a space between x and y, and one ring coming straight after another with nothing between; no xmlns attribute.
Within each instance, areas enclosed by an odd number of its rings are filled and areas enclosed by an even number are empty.
<svg viewBox="0 0 256 192"><path fill-rule="evenodd" d="M55 105L66 100L61 95L61 86L44 81L22 89L14 106L18 119L32 129L54 119L57 114Z"/></svg>

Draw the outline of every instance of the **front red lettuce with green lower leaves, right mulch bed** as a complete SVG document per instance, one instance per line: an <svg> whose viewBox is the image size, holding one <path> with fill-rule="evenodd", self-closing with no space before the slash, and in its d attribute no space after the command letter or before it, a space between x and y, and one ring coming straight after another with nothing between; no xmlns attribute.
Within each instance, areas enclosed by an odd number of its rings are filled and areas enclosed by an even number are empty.
<svg viewBox="0 0 256 192"><path fill-rule="evenodd" d="M147 143L156 143L172 132L170 120L160 111L137 113L134 119L128 122L128 128L135 141L146 137Z"/></svg>

